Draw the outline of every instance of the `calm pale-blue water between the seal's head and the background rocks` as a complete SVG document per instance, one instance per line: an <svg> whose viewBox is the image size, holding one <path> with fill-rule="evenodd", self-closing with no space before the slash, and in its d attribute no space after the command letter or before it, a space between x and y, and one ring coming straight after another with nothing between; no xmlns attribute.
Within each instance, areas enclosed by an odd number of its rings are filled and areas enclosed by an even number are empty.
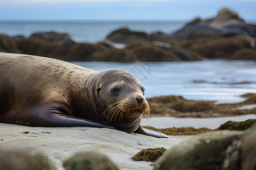
<svg viewBox="0 0 256 170"><path fill-rule="evenodd" d="M256 61L206 59L205 61L147 63L72 62L88 69L126 70L141 80L146 97L181 95L186 99L217 103L243 101L256 93ZM204 80L195 83L195 80Z"/></svg>

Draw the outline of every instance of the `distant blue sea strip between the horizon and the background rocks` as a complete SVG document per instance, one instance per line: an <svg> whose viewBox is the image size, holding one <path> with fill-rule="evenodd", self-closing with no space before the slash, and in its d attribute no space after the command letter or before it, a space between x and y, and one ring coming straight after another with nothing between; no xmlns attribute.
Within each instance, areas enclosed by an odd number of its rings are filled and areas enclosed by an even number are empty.
<svg viewBox="0 0 256 170"><path fill-rule="evenodd" d="M99 42L119 28L133 31L171 33L183 27L184 22L0 22L0 34L30 36L35 32L55 31L69 33L77 41Z"/></svg>

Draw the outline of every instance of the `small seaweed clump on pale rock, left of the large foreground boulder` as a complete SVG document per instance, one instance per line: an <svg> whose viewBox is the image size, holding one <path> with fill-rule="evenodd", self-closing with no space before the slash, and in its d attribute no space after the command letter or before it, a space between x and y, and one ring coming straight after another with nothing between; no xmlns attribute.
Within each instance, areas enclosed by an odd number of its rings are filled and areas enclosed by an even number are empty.
<svg viewBox="0 0 256 170"><path fill-rule="evenodd" d="M131 157L135 161L155 162L163 152L166 151L164 147L147 148L138 152L138 154Z"/></svg>

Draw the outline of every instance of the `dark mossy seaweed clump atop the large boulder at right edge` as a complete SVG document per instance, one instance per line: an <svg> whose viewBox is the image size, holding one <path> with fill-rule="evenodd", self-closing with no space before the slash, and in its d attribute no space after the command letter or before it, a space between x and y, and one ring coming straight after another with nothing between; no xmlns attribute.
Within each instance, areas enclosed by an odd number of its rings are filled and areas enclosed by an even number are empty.
<svg viewBox="0 0 256 170"><path fill-rule="evenodd" d="M221 124L216 130L246 130L249 129L256 119L250 118L245 121L227 121L224 124Z"/></svg>

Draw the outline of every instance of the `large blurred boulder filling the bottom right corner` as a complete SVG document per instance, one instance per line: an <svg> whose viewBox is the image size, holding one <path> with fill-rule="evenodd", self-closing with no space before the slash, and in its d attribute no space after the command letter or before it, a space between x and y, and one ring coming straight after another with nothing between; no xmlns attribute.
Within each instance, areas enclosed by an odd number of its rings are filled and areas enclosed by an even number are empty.
<svg viewBox="0 0 256 170"><path fill-rule="evenodd" d="M255 169L256 125L248 131L216 131L172 147L154 169Z"/></svg>

